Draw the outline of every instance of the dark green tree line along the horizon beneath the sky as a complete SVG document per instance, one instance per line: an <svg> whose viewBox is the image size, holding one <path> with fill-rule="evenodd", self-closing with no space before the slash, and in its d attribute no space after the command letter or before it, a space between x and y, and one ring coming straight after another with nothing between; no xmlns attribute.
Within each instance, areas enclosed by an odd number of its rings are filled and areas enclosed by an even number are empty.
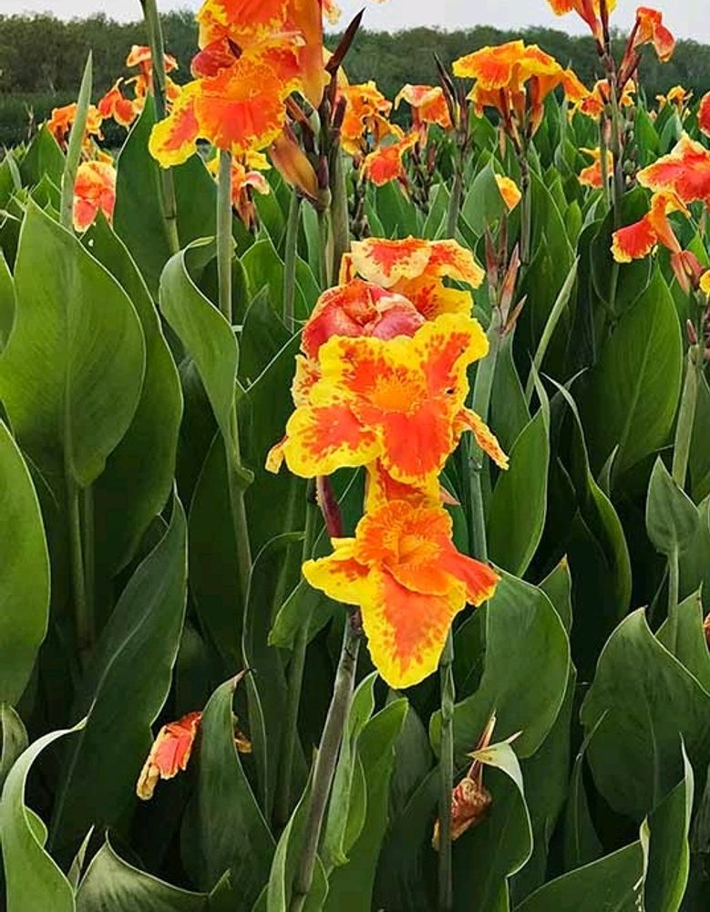
<svg viewBox="0 0 710 912"><path fill-rule="evenodd" d="M197 47L197 28L189 11L163 16L166 47L180 61L177 81L190 78L190 57ZM363 31L348 55L352 81L376 79L388 98L394 98L406 82L433 83L437 79L434 55L445 63L486 45L509 41L520 33L489 26L457 31L413 28L389 35ZM562 64L571 64L580 78L591 85L599 74L599 60L592 39L570 36L546 28L530 28L525 40L539 44ZM334 46L337 35L328 36ZM623 37L619 37L621 42ZM106 16L62 21L50 15L0 15L0 144L26 140L36 123L57 105L66 104L77 92L88 49L94 54L95 93L105 91L124 67L132 44L145 43L141 22L118 23ZM659 64L653 55L643 62L647 92L655 95L681 83L696 94L710 88L710 47L695 41L680 41L673 60ZM107 135L110 142L110 134Z"/></svg>

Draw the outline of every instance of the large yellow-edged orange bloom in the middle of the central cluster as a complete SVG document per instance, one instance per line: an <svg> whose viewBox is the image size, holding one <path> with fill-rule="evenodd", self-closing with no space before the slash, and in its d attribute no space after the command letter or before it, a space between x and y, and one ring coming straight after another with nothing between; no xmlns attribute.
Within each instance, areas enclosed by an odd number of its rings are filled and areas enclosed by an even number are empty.
<svg viewBox="0 0 710 912"><path fill-rule="evenodd" d="M478 321L454 314L413 337L330 338L318 351L321 376L267 468L277 472L285 460L313 478L379 459L396 481L431 490L464 430L491 451L488 428L464 409L468 365L487 352Z"/></svg>

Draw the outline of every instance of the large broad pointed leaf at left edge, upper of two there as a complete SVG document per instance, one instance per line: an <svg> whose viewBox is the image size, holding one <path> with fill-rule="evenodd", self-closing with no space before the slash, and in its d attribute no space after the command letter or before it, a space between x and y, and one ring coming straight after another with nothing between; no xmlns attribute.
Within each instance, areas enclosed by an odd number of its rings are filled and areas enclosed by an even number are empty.
<svg viewBox="0 0 710 912"><path fill-rule="evenodd" d="M77 239L29 203L0 398L36 464L84 487L129 429L143 383L139 318Z"/></svg>

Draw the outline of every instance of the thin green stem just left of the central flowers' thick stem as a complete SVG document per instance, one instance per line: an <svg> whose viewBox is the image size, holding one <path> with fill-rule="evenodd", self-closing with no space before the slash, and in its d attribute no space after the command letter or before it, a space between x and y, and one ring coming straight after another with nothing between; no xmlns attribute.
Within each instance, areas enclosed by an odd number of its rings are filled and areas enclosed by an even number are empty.
<svg viewBox="0 0 710 912"><path fill-rule="evenodd" d="M315 503L312 485L309 485L309 489L305 506L304 562L313 556L315 530L318 520L318 507ZM291 801L293 757L295 755L296 742L298 741L298 710L301 704L301 691L304 684L305 653L308 648L310 620L310 615L301 619L301 627L298 629L298 634L293 644L293 653L288 668L288 690L286 692L283 742L275 806L276 823L282 827L288 823L293 810Z"/></svg>

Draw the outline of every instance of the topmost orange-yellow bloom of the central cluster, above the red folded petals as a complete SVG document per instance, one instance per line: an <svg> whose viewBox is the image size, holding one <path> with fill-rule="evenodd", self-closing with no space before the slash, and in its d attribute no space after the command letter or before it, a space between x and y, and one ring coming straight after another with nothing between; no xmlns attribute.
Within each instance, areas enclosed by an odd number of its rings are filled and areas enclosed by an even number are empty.
<svg viewBox="0 0 710 912"><path fill-rule="evenodd" d="M473 288L478 288L485 277L473 254L453 240L371 237L354 241L351 251L345 270L404 295L429 320L440 314L471 313L471 295L444 285L445 277Z"/></svg>

